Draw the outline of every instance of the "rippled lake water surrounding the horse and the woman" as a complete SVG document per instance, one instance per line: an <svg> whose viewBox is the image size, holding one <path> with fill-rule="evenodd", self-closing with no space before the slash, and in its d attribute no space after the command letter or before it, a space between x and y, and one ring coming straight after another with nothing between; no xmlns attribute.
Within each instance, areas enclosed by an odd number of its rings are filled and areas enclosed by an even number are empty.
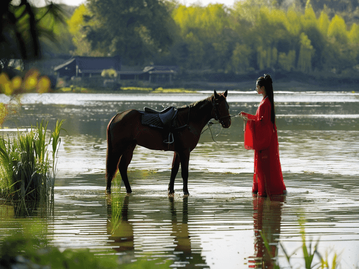
<svg viewBox="0 0 359 269"><path fill-rule="evenodd" d="M343 268L359 266L357 93L275 93L284 200L252 197L253 151L243 147L239 117L229 129L211 127L216 142L209 130L203 133L191 153L189 197L182 195L179 175L175 196L167 196L173 153L137 147L129 167L133 194L123 198L122 222L112 231L104 179L109 119L128 108L179 107L210 94L24 95L21 111L5 127L29 128L44 118L51 129L57 119L66 119L53 212L17 219L11 208L2 209L0 234L19 233L26 223L40 221L49 243L61 249L87 247L124 262L161 257L174 268L251 268L264 247L261 230L281 267L288 267L278 242L292 254L302 244L303 223L307 244L319 239L322 255L341 253ZM254 114L260 100L253 92L228 94L232 115ZM301 249L291 263L304 266Z"/></svg>

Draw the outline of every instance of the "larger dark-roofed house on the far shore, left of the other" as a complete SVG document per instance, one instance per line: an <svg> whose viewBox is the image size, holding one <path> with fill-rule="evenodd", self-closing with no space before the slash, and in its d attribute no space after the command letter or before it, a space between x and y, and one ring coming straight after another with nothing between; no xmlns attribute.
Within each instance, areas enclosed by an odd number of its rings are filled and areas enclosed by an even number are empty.
<svg viewBox="0 0 359 269"><path fill-rule="evenodd" d="M121 71L121 57L74 56L65 63L54 67L57 77L91 77L101 75L104 69Z"/></svg>

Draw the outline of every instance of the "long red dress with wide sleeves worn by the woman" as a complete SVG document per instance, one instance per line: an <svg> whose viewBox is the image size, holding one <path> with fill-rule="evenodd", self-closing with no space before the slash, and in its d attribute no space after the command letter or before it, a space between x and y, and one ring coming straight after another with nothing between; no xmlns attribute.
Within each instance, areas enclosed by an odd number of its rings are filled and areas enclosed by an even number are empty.
<svg viewBox="0 0 359 269"><path fill-rule="evenodd" d="M277 128L270 120L271 103L269 99L265 97L261 101L255 115L245 114L245 116L247 116L248 119L252 119L247 121L245 130L245 147L247 149L251 147L246 144L246 140L249 141L249 143L255 143L258 140L263 141L265 136L271 136L269 147L263 150L254 150L252 191L254 193L258 192L260 196L285 194L286 187L284 185L281 161L279 159ZM265 130L265 132L263 132L263 130ZM272 132L272 134L269 132Z"/></svg>

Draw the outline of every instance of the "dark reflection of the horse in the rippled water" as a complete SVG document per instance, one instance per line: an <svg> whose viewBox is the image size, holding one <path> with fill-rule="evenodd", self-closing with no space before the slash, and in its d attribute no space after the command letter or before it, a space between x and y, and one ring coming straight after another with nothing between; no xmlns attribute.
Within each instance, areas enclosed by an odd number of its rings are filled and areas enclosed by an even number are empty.
<svg viewBox="0 0 359 269"><path fill-rule="evenodd" d="M132 199L132 204L131 204ZM144 245L149 242L141 242L144 238L139 240L139 236L148 237L149 234L153 235L151 246L147 246L149 249L149 255L153 255L156 248L162 249L162 251L157 252L157 255L161 255L166 259L173 260L173 265L171 267L181 267L181 268L209 268L206 264L205 258L201 255L201 251L198 251L198 248L194 251L192 249L191 236L189 233L188 225L188 197L184 197L183 200L176 200L173 196L168 197L168 208L165 207L161 209L162 213L161 218L167 216L170 213L169 219L159 219L157 222L168 223L161 225L158 231L158 227L152 231L143 231L144 227L141 227L143 224L133 225L134 219L130 219L130 216L135 217L134 213L129 213L130 211L136 210L137 206L134 204L138 202L136 197L133 195L126 195L123 202L123 208L121 212L121 222L118 226L115 226L111 219L113 219L113 208L111 199L108 199L107 212L107 233L109 236L109 244L111 248L123 256L123 262L130 261L130 257L135 259L138 257L136 251L143 251ZM179 204L178 204L179 203ZM182 206L181 206L182 203ZM131 208L132 205L132 208ZM177 211L178 205L182 210ZM154 216L152 216L154 217ZM167 234L167 235L165 235ZM167 241L164 242L164 237L167 237ZM171 239L168 241L168 239ZM149 238L147 238L149 240ZM142 246L141 246L142 245ZM135 253L137 253L135 257ZM126 254L126 256L124 256Z"/></svg>

